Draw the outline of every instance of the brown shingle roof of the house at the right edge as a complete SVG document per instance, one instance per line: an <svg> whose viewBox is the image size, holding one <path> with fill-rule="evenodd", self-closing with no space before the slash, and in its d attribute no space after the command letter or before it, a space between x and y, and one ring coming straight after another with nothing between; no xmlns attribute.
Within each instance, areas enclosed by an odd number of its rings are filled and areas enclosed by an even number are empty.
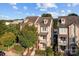
<svg viewBox="0 0 79 59"><path fill-rule="evenodd" d="M59 27L68 27L70 24L76 24L79 26L79 17L78 16L61 16L59 19L65 18L65 24L60 24Z"/></svg>

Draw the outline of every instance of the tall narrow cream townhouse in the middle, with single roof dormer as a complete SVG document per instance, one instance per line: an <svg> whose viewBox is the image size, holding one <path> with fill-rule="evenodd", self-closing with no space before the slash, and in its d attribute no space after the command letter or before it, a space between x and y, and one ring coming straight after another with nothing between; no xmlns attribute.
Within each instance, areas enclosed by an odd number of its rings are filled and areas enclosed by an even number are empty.
<svg viewBox="0 0 79 59"><path fill-rule="evenodd" d="M38 49L45 50L46 47L51 47L52 40L52 22L51 17L39 17L37 21L38 32Z"/></svg>

